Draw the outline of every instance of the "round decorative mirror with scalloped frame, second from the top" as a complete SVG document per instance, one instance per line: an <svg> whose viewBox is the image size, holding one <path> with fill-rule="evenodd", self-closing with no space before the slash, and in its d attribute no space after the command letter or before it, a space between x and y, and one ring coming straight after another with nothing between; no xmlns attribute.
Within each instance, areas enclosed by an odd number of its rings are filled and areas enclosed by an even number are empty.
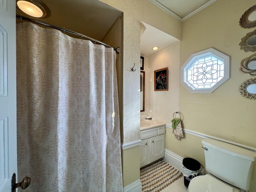
<svg viewBox="0 0 256 192"><path fill-rule="evenodd" d="M240 49L244 50L245 52L256 51L256 30L253 32L249 32L246 34L245 37L242 38L242 41L240 42Z"/></svg>

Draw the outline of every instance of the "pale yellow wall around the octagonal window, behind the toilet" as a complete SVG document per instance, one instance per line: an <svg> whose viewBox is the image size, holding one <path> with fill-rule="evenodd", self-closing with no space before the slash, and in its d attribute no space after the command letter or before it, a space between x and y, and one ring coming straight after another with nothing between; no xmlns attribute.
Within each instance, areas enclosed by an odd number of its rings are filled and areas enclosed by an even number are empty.
<svg viewBox="0 0 256 192"><path fill-rule="evenodd" d="M180 67L194 53L213 47L230 56L230 79L211 94L191 94L180 84L180 111L186 129L256 147L256 103L240 95L242 82L250 76L239 72L242 59L251 56L240 50L241 38L255 30L239 26L242 14L255 1L218 0L204 10L182 22ZM186 134L181 140L169 140L169 150L192 157L204 165L202 139ZM251 192L256 191L254 166Z"/></svg>

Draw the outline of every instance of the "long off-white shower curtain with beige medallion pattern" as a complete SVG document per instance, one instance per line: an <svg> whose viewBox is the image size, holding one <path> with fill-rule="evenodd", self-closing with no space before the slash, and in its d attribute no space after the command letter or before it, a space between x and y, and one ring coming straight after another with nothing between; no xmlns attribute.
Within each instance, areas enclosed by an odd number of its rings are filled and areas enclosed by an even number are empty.
<svg viewBox="0 0 256 192"><path fill-rule="evenodd" d="M23 22L16 76L22 192L122 192L113 48Z"/></svg>

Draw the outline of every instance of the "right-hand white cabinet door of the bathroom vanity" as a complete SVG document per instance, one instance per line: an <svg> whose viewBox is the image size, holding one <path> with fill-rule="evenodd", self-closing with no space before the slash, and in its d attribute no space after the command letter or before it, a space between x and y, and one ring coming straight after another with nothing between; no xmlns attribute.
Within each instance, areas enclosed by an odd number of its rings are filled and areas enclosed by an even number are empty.
<svg viewBox="0 0 256 192"><path fill-rule="evenodd" d="M150 138L150 162L164 157L164 134Z"/></svg>

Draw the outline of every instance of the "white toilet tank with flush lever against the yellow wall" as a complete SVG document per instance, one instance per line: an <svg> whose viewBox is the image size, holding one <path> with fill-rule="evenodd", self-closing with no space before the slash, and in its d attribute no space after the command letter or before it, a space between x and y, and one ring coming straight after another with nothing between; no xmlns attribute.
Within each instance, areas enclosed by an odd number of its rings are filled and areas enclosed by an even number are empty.
<svg viewBox="0 0 256 192"><path fill-rule="evenodd" d="M256 153L213 139L203 139L205 168L221 180L243 190L250 189Z"/></svg>

